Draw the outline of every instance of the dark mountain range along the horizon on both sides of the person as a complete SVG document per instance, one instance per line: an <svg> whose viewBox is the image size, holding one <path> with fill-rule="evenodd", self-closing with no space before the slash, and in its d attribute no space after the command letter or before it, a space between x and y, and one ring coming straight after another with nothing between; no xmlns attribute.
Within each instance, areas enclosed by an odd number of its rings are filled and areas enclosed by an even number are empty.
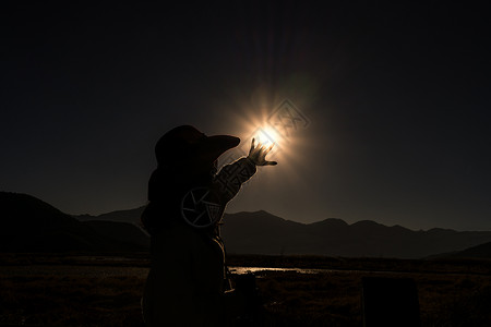
<svg viewBox="0 0 491 327"><path fill-rule="evenodd" d="M1 252L147 251L140 228L144 207L99 216L70 216L26 194L0 192ZM414 231L371 220L352 225L328 218L313 223L266 211L226 214L221 237L228 253L422 258L491 257L491 231Z"/></svg>

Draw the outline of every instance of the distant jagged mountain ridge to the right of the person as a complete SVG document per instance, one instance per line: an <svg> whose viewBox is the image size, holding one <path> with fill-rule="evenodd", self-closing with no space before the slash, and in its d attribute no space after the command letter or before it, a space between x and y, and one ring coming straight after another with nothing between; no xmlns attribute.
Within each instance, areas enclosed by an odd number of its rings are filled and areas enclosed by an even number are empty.
<svg viewBox="0 0 491 327"><path fill-rule="evenodd" d="M347 257L420 258L491 242L488 231L412 231L370 220L347 225L333 218L304 225L266 211L226 215L221 234L228 253Z"/></svg>

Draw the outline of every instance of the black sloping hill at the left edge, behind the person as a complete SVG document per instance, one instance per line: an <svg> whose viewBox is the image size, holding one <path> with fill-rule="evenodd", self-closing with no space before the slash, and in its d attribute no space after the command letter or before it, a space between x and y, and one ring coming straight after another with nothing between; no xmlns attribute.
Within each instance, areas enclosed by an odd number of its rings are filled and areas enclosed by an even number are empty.
<svg viewBox="0 0 491 327"><path fill-rule="evenodd" d="M0 192L0 252L119 252L148 249L146 235L134 226L81 222L26 194Z"/></svg>

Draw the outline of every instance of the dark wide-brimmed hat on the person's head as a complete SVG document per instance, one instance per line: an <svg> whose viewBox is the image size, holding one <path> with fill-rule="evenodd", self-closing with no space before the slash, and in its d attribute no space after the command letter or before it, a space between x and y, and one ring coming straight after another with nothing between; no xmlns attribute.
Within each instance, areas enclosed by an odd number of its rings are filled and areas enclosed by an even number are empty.
<svg viewBox="0 0 491 327"><path fill-rule="evenodd" d="M236 136L207 136L194 126L182 125L170 130L158 140L155 155L158 165L175 166L189 160L212 164L239 143L240 138Z"/></svg>

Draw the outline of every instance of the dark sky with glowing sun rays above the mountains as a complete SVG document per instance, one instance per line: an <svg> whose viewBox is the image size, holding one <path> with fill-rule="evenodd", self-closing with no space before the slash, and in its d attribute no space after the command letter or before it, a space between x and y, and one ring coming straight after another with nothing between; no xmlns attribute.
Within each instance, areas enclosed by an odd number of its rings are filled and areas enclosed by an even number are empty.
<svg viewBox="0 0 491 327"><path fill-rule="evenodd" d="M0 190L133 208L166 131L246 142L289 99L308 124L228 211L491 230L486 8L233 3L3 7Z"/></svg>

